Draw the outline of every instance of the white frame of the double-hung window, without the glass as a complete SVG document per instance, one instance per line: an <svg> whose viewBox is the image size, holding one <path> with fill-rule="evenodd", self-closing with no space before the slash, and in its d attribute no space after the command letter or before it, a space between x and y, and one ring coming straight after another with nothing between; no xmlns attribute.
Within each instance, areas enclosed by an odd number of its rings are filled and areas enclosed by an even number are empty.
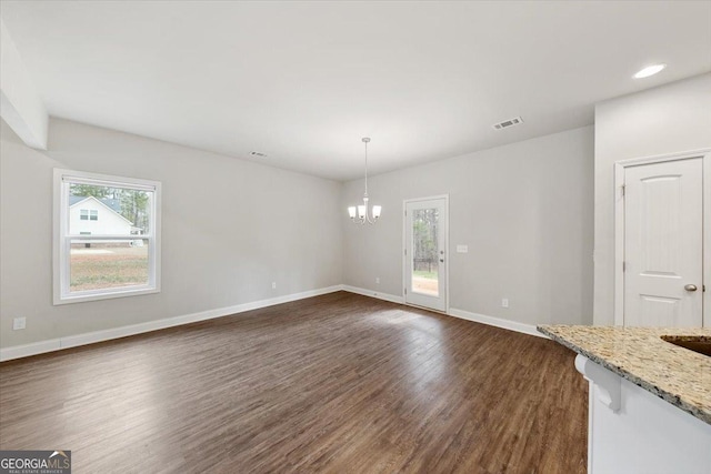
<svg viewBox="0 0 711 474"><path fill-rule="evenodd" d="M151 191L150 232L140 235L148 240L148 284L111 289L70 291L70 252L72 239L126 240L137 235L71 235L69 233L69 186L71 183ZM134 178L112 177L83 171L54 169L54 224L53 224L53 301L54 304L79 303L112 297L136 296L160 292L160 199L161 183Z"/></svg>

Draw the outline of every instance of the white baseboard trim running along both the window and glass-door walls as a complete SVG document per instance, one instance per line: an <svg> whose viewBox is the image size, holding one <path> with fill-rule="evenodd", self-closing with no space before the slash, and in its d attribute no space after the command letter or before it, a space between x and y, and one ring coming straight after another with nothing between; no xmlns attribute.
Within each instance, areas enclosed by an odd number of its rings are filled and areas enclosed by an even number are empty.
<svg viewBox="0 0 711 474"><path fill-rule="evenodd" d="M112 339L126 337L146 332L158 331L167 327L179 326L198 321L212 320L216 317L229 316L230 314L243 313L246 311L259 310L260 307L273 306L274 304L289 303L291 301L303 300L307 297L319 296L321 294L333 293L337 291L348 291L350 293L361 294L363 296L375 297L389 301L391 303L403 304L404 299L394 294L381 293L373 290L367 290L350 285L333 285L318 290L293 293L269 300L253 301L251 303L237 304L234 306L219 307L216 310L201 311L181 316L166 317L162 320L148 321L146 323L131 324L128 326L112 327L109 330L94 331L90 333L69 335L47 341L33 342L30 344L16 345L12 347L0 349L0 362L11 361L13 359L29 357L30 355L43 354L46 352L60 351L62 349L77 347L80 345L93 344L97 342L110 341ZM461 317L462 320L473 321L477 323L488 324L504 330L515 331L523 334L545 337L535 330L534 325L519 323L515 321L502 320L499 317L487 316L484 314L470 313L469 311L450 309L449 315Z"/></svg>

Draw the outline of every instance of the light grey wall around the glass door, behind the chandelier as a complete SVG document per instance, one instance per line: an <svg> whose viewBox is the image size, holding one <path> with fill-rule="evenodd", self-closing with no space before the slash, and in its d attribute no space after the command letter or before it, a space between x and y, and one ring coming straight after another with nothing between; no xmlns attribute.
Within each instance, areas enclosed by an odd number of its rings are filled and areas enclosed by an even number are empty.
<svg viewBox="0 0 711 474"><path fill-rule="evenodd" d="M374 226L343 220L344 283L402 295L402 201L449 193L450 248L469 245L450 254L450 307L525 324L590 324L592 173L585 127L373 177L371 203L383 215ZM346 184L343 212L362 192L362 179Z"/></svg>

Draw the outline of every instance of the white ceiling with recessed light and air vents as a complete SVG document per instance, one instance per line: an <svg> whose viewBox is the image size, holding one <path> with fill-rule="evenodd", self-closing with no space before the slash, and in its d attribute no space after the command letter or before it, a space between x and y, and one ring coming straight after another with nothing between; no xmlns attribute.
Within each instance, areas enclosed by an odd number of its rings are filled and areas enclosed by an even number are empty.
<svg viewBox="0 0 711 474"><path fill-rule="evenodd" d="M0 9L51 115L337 180L362 174L361 137L379 173L591 124L595 102L711 70L709 1Z"/></svg>

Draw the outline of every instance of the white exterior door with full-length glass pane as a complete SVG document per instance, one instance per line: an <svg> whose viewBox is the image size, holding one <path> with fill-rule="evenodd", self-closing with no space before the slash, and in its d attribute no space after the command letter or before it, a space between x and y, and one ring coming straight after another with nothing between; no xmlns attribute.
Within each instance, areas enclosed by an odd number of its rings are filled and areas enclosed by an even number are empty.
<svg viewBox="0 0 711 474"><path fill-rule="evenodd" d="M447 311L447 198L405 201L404 301Z"/></svg>

